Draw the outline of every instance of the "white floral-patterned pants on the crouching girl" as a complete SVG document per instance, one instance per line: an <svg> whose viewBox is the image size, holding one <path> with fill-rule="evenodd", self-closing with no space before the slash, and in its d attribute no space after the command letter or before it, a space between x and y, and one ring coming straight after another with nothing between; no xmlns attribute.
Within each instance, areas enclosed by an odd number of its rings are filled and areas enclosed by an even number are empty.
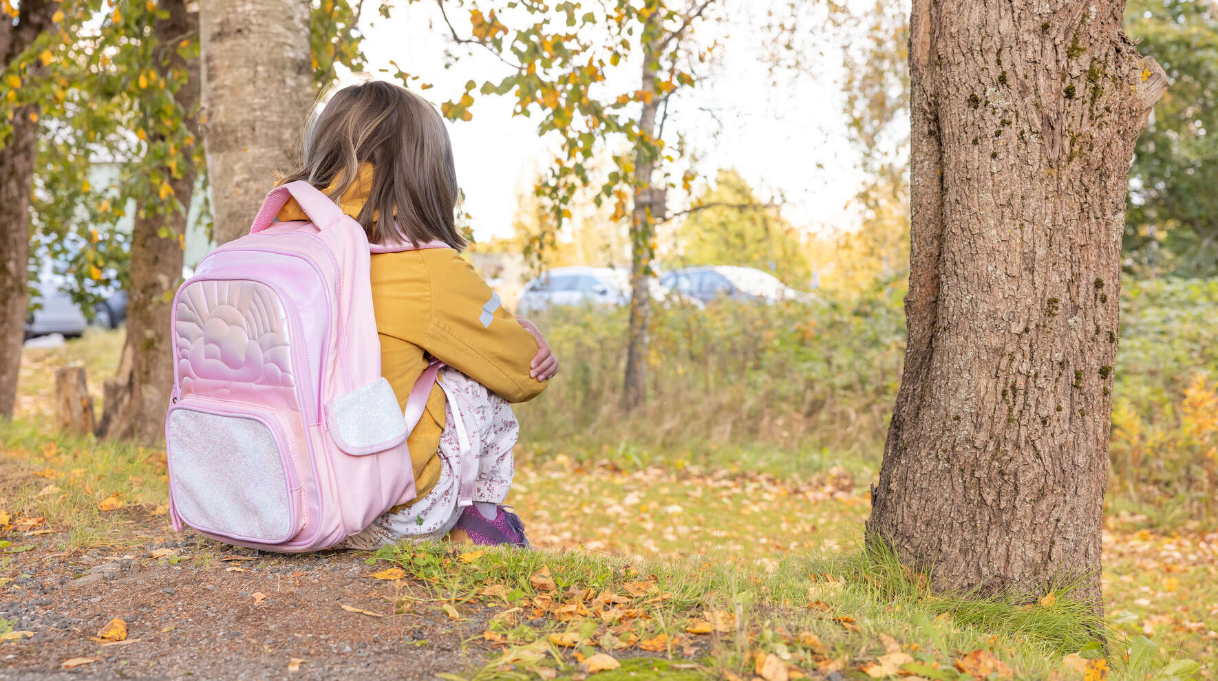
<svg viewBox="0 0 1218 681"><path fill-rule="evenodd" d="M502 503L512 487L512 448L520 424L512 406L482 384L446 367L440 385L447 395L440 436L440 480L407 507L391 509L335 548L373 551L409 538L440 540L471 502Z"/></svg>

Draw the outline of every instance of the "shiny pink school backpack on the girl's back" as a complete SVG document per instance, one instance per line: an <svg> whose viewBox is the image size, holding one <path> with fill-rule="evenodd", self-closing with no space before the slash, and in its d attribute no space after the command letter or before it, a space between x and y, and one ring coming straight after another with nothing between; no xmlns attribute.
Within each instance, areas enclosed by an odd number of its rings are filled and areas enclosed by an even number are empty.
<svg viewBox="0 0 1218 681"><path fill-rule="evenodd" d="M312 222L273 222L289 196ZM174 296L172 337L174 530L318 551L414 498L406 439L440 365L403 414L381 378L368 238L308 183L273 189L250 234L199 263Z"/></svg>

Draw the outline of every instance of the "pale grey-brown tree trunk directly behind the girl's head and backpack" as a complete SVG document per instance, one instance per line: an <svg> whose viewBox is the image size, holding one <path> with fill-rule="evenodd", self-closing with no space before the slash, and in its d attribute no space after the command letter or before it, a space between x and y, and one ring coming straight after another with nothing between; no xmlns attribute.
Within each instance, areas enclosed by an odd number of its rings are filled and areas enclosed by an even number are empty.
<svg viewBox="0 0 1218 681"><path fill-rule="evenodd" d="M250 229L313 102L308 0L201 2L203 145L216 241Z"/></svg>

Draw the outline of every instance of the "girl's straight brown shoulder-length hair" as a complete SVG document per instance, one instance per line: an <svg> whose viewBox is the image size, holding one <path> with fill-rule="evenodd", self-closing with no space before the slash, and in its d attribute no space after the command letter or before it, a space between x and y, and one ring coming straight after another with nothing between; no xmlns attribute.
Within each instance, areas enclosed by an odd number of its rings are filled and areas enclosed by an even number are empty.
<svg viewBox="0 0 1218 681"><path fill-rule="evenodd" d="M300 163L281 182L306 180L339 201L364 163L373 179L356 219L369 242L469 245L456 224L452 143L428 100L381 80L331 85L304 125Z"/></svg>

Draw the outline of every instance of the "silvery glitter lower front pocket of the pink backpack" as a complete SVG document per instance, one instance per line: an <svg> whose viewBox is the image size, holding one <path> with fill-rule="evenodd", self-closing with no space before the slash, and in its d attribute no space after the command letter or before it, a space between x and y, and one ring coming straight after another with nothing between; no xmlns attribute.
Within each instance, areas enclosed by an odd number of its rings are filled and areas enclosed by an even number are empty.
<svg viewBox="0 0 1218 681"><path fill-rule="evenodd" d="M186 397L169 409L166 448L175 521L239 542L283 543L304 525L300 457L279 417Z"/></svg>

